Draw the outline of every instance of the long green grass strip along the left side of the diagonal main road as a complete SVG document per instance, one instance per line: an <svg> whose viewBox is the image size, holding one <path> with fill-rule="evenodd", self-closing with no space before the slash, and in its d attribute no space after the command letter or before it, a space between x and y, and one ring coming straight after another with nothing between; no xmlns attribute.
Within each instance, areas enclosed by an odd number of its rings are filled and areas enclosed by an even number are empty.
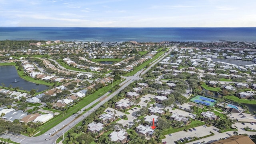
<svg viewBox="0 0 256 144"><path fill-rule="evenodd" d="M117 80L113 84L115 86L116 84L119 84L119 83L120 83L120 80ZM68 109L68 112L66 114L64 114L64 116L63 116L63 114L54 116L54 118L52 118L51 120L44 123L44 125L42 125L39 130L36 130L36 132L39 132L39 131L40 132L38 134L36 134L35 136L40 136L41 134L44 134L45 132L47 132L48 130L50 130L51 128L53 128L54 126L56 126L57 124L59 124L60 122L62 122L66 118L68 118L69 116L71 116L72 114L78 112L78 110L81 110L84 106L90 104L91 102L96 100L98 97L100 97L103 94L105 94L106 92L108 92L112 88L111 86L112 85L105 86L105 87L101 88L100 90L97 90L96 92L94 92L94 94L86 96L78 104L74 105L73 107L70 107Z"/></svg>

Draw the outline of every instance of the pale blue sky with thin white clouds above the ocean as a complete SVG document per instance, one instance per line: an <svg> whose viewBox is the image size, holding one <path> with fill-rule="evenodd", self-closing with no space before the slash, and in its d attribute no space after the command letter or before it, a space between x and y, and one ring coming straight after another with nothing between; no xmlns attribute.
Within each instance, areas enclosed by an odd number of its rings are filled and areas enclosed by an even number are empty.
<svg viewBox="0 0 256 144"><path fill-rule="evenodd" d="M255 27L256 0L0 0L0 26Z"/></svg>

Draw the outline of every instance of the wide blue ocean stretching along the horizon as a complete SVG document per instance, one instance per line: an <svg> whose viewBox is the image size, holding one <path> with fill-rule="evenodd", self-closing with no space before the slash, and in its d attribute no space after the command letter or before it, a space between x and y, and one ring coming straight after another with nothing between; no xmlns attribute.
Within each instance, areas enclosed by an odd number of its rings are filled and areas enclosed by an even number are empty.
<svg viewBox="0 0 256 144"><path fill-rule="evenodd" d="M256 42L248 28L78 28L0 27L0 40Z"/></svg>

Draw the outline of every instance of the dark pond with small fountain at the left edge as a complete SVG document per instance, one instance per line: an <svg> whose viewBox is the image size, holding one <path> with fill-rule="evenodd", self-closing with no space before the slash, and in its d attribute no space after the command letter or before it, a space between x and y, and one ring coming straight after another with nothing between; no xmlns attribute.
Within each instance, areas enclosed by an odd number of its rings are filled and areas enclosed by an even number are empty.
<svg viewBox="0 0 256 144"><path fill-rule="evenodd" d="M12 85L13 88L19 87L22 90L30 91L32 89L38 89L38 92L48 89L48 86L42 84L35 84L28 82L17 73L15 66L0 66L0 85L9 87Z"/></svg>

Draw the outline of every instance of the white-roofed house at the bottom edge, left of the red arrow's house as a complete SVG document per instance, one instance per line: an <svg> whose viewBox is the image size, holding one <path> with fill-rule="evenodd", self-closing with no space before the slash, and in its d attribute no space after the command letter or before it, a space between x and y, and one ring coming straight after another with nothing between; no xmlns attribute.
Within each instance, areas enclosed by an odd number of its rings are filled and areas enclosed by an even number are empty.
<svg viewBox="0 0 256 144"><path fill-rule="evenodd" d="M127 140L128 133L120 130L119 132L111 132L109 137L111 141L123 144Z"/></svg>

